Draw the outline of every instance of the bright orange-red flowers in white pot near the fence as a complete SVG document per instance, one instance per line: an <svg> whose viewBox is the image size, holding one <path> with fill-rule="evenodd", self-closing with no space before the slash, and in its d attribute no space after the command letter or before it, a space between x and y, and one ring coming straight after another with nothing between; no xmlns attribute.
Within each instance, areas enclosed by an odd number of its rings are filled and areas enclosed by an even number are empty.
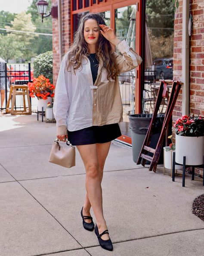
<svg viewBox="0 0 204 256"><path fill-rule="evenodd" d="M30 96L32 98L37 97L38 99L37 110L42 111L42 108L45 110L48 102L52 101L55 86L50 83L48 78L40 75L34 78L32 83L28 83L28 89Z"/></svg>

